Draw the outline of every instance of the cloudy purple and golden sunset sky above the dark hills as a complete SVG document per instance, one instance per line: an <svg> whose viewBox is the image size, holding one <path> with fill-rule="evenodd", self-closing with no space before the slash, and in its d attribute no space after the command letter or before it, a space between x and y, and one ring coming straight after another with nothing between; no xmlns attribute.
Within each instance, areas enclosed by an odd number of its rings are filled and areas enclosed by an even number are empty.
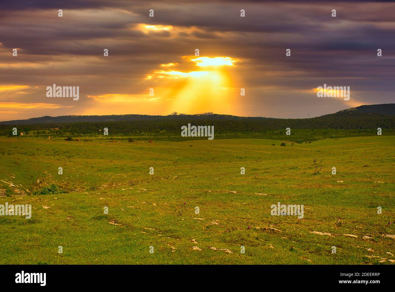
<svg viewBox="0 0 395 292"><path fill-rule="evenodd" d="M394 15L388 1L2 0L0 121L307 118L393 103ZM53 84L78 86L79 99L48 97ZM318 97L324 84L349 86L350 99Z"/></svg>

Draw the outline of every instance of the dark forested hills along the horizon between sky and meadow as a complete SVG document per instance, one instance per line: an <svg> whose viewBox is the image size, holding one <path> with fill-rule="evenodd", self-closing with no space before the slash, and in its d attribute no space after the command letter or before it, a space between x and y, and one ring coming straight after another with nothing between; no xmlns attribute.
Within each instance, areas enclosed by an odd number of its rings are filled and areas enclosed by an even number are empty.
<svg viewBox="0 0 395 292"><path fill-rule="evenodd" d="M274 119L267 117L237 117L234 115L66 115L60 117L39 117L27 120L0 123L0 136L13 136L13 127L19 131L49 130L57 135L98 135L103 128L111 129L111 135L162 135L179 136L181 126L213 125L216 135L255 135L267 131L281 133L286 128L334 129L372 133L377 128L395 129L395 105L375 104L359 106L340 112L305 119ZM384 112L384 113L383 113ZM386 113L386 114L385 114ZM370 131L370 132L369 132ZM255 134L254 134L255 133ZM293 131L295 133L295 131ZM329 132L326 132L327 134ZM37 133L36 133L37 134ZM42 133L40 133L42 134ZM329 134L328 134L329 135ZM180 136L181 137L181 136ZM274 137L274 136L273 136ZM306 138L309 141L313 136ZM299 140L298 140L299 141ZM299 143L299 142L298 142Z"/></svg>

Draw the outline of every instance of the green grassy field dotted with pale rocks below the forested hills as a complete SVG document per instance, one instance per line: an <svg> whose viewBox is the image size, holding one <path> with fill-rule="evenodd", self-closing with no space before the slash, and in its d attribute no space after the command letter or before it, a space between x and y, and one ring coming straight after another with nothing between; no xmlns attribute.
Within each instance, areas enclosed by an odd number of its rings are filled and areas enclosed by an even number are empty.
<svg viewBox="0 0 395 292"><path fill-rule="evenodd" d="M282 142L0 137L0 264L394 264L395 136Z"/></svg>

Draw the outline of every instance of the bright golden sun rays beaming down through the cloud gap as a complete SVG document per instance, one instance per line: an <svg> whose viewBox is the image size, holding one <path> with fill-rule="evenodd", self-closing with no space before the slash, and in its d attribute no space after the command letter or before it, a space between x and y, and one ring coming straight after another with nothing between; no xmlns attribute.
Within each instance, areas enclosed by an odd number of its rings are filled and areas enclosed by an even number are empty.
<svg viewBox="0 0 395 292"><path fill-rule="evenodd" d="M181 64L161 64L162 70L153 71L146 80L161 80L158 82L160 88L156 92L159 92L163 99L171 100L171 108L179 112L196 113L205 112L207 109L215 112L231 111L233 87L228 68L234 67L238 60L227 56L184 56L182 59L184 62ZM177 67L182 67L183 70L177 70ZM199 67L205 67L205 70L196 70Z"/></svg>

